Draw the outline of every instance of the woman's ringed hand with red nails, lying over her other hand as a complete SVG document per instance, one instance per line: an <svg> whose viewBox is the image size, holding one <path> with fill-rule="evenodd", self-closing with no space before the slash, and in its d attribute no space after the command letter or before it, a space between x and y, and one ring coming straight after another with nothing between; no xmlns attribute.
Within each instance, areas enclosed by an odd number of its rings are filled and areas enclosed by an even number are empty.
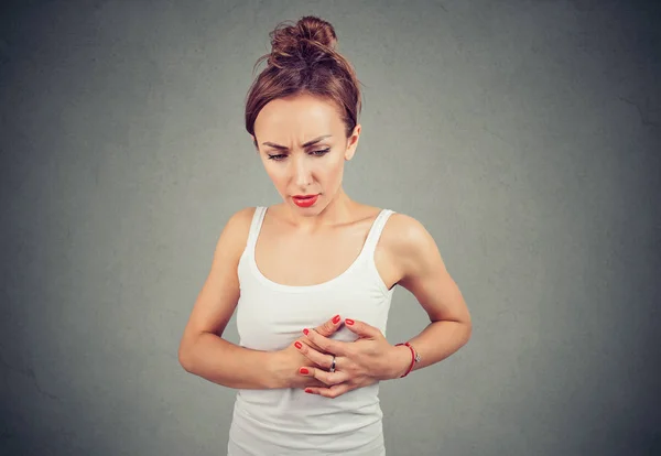
<svg viewBox="0 0 661 456"><path fill-rule="evenodd" d="M409 367L411 362L409 348L390 345L379 328L350 318L345 319L345 325L358 335L357 340L346 343L329 339L315 330L303 332L313 345L324 351L319 352L306 344L302 344L299 348L316 366L329 369L335 355L335 372L310 366L302 367L302 376L314 377L328 386L328 388L310 387L305 392L337 398L379 380L397 378ZM307 373L304 373L305 371Z"/></svg>

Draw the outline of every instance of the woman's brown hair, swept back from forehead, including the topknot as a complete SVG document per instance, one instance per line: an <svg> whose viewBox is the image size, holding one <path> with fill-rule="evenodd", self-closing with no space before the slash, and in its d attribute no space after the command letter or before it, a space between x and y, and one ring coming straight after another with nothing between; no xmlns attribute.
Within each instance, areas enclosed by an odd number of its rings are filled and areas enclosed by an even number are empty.
<svg viewBox="0 0 661 456"><path fill-rule="evenodd" d="M351 64L335 51L337 35L333 25L306 15L295 24L279 23L269 36L271 53L262 55L252 68L254 74L257 66L267 59L267 68L248 90L246 130L254 137L254 120L269 101L310 94L335 101L348 138L360 113L360 82Z"/></svg>

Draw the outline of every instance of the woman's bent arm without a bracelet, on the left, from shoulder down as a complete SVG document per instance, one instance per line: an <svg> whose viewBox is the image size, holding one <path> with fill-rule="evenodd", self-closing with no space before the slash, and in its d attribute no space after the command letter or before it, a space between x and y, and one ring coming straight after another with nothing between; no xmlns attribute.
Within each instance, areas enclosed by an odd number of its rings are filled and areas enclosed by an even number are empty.
<svg viewBox="0 0 661 456"><path fill-rule="evenodd" d="M299 367L310 365L310 361L294 348L252 350L221 337L239 300L237 268L253 213L254 208L239 210L220 234L209 274L184 329L178 348L180 363L191 373L229 388L314 386L310 378L297 374ZM321 384L316 379L312 380L316 386Z"/></svg>

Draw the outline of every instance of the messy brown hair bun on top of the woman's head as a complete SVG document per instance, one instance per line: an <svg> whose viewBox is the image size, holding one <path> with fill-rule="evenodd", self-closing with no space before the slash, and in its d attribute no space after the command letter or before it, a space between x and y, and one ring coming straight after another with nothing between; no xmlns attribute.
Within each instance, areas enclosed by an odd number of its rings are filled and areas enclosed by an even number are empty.
<svg viewBox="0 0 661 456"><path fill-rule="evenodd" d="M312 57L318 61L319 52L333 54L337 44L333 25L314 15L303 17L295 24L291 21L281 22L269 36L269 65L278 67L292 58L308 61Z"/></svg>

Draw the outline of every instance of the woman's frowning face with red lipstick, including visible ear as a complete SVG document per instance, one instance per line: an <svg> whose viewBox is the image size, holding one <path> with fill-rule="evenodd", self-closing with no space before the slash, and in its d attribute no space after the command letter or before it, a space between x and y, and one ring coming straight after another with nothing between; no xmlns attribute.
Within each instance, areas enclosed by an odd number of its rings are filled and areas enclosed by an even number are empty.
<svg viewBox="0 0 661 456"><path fill-rule="evenodd" d="M346 138L336 105L311 95L274 99L254 121L267 174L284 203L306 215L321 213L342 193L344 162L354 156L359 134L358 124ZM318 197L301 207L293 199L296 195Z"/></svg>

